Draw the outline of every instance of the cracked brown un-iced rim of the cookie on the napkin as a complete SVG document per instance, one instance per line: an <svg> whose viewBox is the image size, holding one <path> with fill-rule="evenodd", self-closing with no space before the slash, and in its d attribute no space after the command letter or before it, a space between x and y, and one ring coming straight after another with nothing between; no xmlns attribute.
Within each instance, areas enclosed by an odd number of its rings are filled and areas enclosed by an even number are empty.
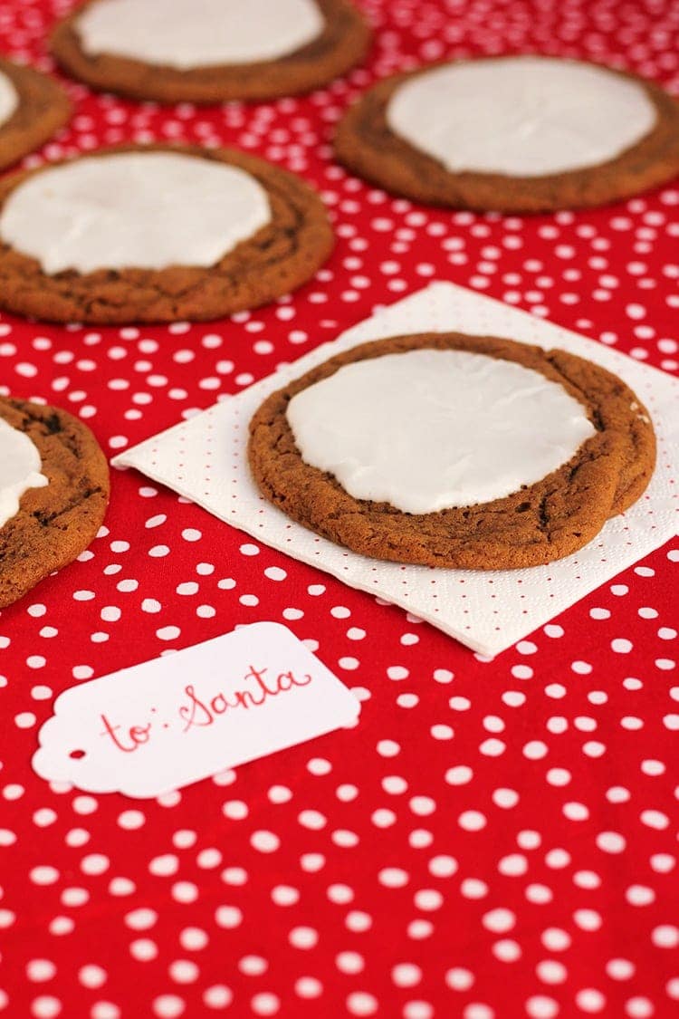
<svg viewBox="0 0 679 1019"><path fill-rule="evenodd" d="M286 416L292 396L352 362L426 347L469 351L541 372L583 405L596 435L536 484L492 502L423 515L355 499L332 474L304 463ZM394 336L339 354L270 395L249 429L250 469L270 502L355 552L431 567L508 570L569 555L642 494L656 462L647 412L617 376L564 351L460 333Z"/></svg>

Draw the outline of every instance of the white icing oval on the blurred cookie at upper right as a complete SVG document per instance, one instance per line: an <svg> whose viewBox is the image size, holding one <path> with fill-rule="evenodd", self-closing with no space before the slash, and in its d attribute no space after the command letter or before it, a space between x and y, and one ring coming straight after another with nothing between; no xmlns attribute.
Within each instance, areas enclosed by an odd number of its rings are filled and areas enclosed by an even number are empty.
<svg viewBox="0 0 679 1019"><path fill-rule="evenodd" d="M546 57L446 64L402 85L391 129L451 172L534 177L614 159L654 127L640 85Z"/></svg>

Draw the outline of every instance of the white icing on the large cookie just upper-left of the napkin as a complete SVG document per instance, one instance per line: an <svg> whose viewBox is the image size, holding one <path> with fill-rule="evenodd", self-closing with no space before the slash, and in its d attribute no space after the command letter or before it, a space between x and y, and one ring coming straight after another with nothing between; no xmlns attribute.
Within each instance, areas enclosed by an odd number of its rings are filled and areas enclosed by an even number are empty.
<svg viewBox="0 0 679 1019"><path fill-rule="evenodd" d="M15 187L0 238L47 273L212 266L271 221L243 170L169 152L63 163Z"/></svg>

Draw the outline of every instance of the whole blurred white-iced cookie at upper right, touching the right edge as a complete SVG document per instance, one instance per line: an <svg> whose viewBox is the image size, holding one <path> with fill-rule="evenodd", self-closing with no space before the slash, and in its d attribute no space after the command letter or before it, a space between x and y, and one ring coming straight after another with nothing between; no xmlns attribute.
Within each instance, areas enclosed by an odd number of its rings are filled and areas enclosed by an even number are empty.
<svg viewBox="0 0 679 1019"><path fill-rule="evenodd" d="M347 111L335 149L417 202L597 206L679 172L679 105L653 82L576 60L459 60L380 82Z"/></svg>

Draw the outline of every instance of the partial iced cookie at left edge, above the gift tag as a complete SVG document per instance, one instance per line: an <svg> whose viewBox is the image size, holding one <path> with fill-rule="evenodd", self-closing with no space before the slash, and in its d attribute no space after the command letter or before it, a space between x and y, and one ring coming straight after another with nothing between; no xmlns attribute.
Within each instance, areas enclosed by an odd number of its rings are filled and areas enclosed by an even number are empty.
<svg viewBox="0 0 679 1019"><path fill-rule="evenodd" d="M65 411L0 397L0 428L5 608L96 537L109 499L109 469L90 429Z"/></svg>

